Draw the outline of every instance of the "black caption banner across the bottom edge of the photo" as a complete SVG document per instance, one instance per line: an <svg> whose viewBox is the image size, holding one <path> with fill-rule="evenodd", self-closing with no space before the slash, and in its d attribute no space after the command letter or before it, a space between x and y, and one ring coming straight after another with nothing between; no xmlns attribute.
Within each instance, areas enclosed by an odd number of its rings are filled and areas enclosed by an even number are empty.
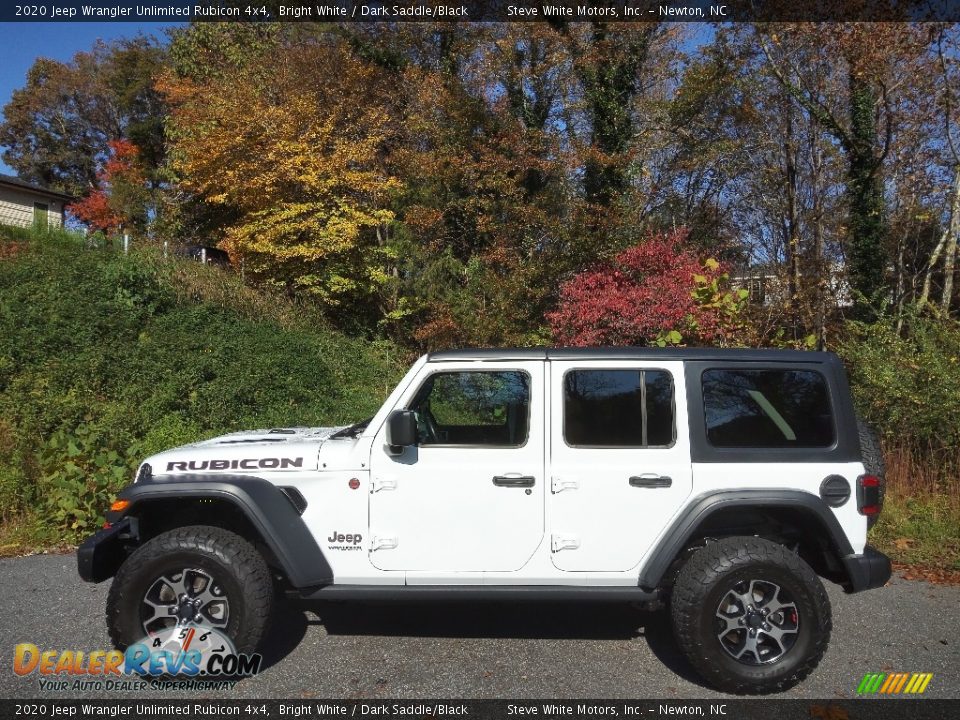
<svg viewBox="0 0 960 720"><path fill-rule="evenodd" d="M932 720L960 700L0 700L3 718L661 718Z"/></svg>

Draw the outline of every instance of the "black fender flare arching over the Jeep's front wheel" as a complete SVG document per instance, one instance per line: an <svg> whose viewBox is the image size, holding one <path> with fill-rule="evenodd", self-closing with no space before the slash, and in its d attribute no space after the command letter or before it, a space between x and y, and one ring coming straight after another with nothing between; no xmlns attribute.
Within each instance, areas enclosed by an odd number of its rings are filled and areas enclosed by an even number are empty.
<svg viewBox="0 0 960 720"><path fill-rule="evenodd" d="M293 587L308 588L333 581L330 563L300 517L294 501L263 478L248 475L154 475L128 485L118 498L130 502L123 513L124 518L137 517L154 500L211 498L229 502L260 533Z"/></svg>

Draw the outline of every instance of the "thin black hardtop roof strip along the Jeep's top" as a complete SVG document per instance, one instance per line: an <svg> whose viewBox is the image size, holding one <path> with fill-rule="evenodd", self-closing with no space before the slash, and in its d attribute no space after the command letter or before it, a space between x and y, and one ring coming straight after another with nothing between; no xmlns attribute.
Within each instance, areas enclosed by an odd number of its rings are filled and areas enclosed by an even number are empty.
<svg viewBox="0 0 960 720"><path fill-rule="evenodd" d="M477 348L441 350L427 355L427 362L516 361L516 360L718 360L724 362L835 363L831 352L809 350L771 350L754 348Z"/></svg>

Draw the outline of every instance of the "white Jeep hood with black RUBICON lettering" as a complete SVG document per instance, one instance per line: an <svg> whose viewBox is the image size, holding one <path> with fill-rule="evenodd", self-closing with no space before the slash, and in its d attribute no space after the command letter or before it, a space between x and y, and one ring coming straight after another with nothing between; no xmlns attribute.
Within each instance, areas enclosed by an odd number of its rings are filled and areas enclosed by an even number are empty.
<svg viewBox="0 0 960 720"><path fill-rule="evenodd" d="M154 475L316 470L320 448L343 427L247 430L182 445L147 458Z"/></svg>

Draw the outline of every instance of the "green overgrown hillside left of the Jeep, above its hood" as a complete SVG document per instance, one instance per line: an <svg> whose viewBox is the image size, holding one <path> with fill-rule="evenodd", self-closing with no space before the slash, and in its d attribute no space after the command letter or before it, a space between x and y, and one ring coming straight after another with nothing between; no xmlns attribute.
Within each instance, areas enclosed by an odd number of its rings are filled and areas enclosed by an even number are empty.
<svg viewBox="0 0 960 720"><path fill-rule="evenodd" d="M0 229L0 546L89 534L161 449L363 419L407 360L230 272Z"/></svg>

